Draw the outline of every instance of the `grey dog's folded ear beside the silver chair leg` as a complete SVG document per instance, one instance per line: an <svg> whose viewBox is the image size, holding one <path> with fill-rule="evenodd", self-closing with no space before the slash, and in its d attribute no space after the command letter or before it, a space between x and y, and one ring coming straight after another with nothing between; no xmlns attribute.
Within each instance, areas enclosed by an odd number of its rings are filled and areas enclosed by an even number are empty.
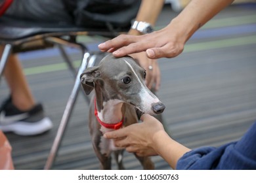
<svg viewBox="0 0 256 183"><path fill-rule="evenodd" d="M84 73L80 75L81 86L83 87L83 91L89 95L93 88L95 87L94 80L95 78L100 77L100 71L98 67L89 67L85 70Z"/></svg>

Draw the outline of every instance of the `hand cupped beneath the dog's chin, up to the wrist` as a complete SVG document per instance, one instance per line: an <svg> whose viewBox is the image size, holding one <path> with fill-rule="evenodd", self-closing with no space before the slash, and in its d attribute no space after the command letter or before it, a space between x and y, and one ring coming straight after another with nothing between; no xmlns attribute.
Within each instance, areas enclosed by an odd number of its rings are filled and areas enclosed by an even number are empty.
<svg viewBox="0 0 256 183"><path fill-rule="evenodd" d="M156 156L154 138L164 132L163 125L153 116L143 114L142 123L132 124L116 131L104 134L106 139L114 139L117 147L123 147L127 152L135 152L137 156Z"/></svg>

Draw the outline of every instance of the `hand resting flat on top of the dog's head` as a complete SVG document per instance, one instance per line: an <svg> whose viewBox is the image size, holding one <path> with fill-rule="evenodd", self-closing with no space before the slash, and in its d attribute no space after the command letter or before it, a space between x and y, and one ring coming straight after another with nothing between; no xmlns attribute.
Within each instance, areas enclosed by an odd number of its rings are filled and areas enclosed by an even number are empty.
<svg viewBox="0 0 256 183"><path fill-rule="evenodd" d="M103 52L113 52L116 57L146 51L150 59L173 58L181 54L186 39L171 22L167 27L146 35L119 35L99 44L98 48Z"/></svg>

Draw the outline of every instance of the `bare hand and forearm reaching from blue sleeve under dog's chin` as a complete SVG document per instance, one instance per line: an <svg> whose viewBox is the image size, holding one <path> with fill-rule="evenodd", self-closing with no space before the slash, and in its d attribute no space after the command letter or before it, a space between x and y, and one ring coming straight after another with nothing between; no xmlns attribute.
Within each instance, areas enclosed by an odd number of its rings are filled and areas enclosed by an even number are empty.
<svg viewBox="0 0 256 183"><path fill-rule="evenodd" d="M116 146L125 147L138 156L160 155L175 169L179 158L190 149L171 139L153 116L143 114L141 120L142 123L105 133L104 137L115 139Z"/></svg>

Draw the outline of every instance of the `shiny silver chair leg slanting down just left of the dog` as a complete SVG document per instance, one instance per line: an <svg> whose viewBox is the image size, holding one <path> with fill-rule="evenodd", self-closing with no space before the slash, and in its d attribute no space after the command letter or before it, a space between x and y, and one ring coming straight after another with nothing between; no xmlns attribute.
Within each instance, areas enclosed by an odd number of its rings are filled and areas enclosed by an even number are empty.
<svg viewBox="0 0 256 183"><path fill-rule="evenodd" d="M90 57L90 54L88 52L83 54L82 63L79 67L79 70L78 70L76 78L75 78L74 88L73 88L72 93L70 94L70 97L68 99L68 103L64 110L62 120L60 121L60 125L58 127L58 131L57 131L56 137L54 139L53 146L51 147L51 151L47 158L47 162L45 164L44 169L48 170L48 169L51 169L51 167L53 166L54 160L56 158L56 154L58 153L58 149L59 149L60 143L62 141L62 137L64 135L64 131L66 130L66 125L68 124L68 120L70 119L70 115L74 108L75 100L77 99L77 94L80 89L80 75L81 75L81 73L83 73L83 71L85 71L85 69L88 65L89 57Z"/></svg>

